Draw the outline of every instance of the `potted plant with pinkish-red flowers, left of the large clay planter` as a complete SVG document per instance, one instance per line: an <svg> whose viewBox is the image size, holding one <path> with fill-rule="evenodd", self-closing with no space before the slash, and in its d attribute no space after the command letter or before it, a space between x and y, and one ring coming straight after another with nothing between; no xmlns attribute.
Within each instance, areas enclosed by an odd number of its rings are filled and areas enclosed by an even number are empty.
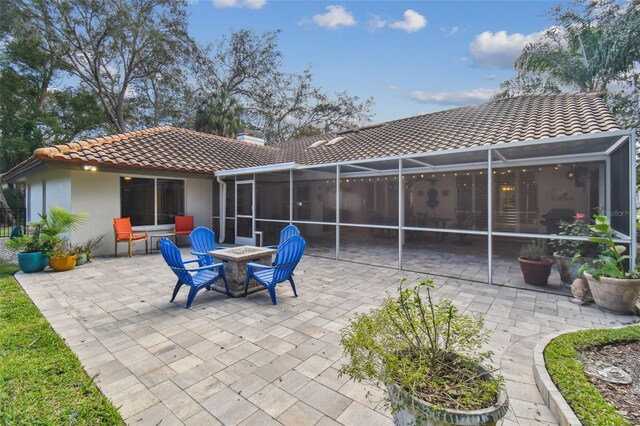
<svg viewBox="0 0 640 426"><path fill-rule="evenodd" d="M561 221L559 235L572 237L594 237L596 234L584 221L584 214L576 214L573 222ZM552 237L553 238L553 237ZM585 263L592 262L603 250L603 246L592 244L589 241L576 240L552 240L550 246L553 249L553 258L560 273L560 279L566 285L571 285L578 276L578 269ZM581 256L575 257L576 253Z"/></svg>

